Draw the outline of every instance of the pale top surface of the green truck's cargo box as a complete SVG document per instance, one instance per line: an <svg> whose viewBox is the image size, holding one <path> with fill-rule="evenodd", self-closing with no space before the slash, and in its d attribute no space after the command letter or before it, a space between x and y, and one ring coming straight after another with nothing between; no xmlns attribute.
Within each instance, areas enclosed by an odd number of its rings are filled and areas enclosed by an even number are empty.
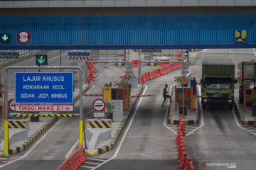
<svg viewBox="0 0 256 170"><path fill-rule="evenodd" d="M235 65L232 58L224 57L204 57L202 58L203 65Z"/></svg>

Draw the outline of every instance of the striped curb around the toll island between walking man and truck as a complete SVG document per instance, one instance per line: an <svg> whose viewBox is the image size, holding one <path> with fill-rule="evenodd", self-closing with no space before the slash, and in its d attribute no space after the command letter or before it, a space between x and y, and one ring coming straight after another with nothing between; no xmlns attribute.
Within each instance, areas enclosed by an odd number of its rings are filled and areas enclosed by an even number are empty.
<svg viewBox="0 0 256 170"><path fill-rule="evenodd" d="M175 96L174 96L174 86L171 89L171 101L175 101ZM179 120L174 120L173 119L173 114L174 114L174 109L175 105L171 105L171 111L169 114L169 124L171 125L178 125ZM199 114L198 114L198 98L196 98L196 119L191 119L191 120L182 120L183 125L196 125L199 123Z"/></svg>

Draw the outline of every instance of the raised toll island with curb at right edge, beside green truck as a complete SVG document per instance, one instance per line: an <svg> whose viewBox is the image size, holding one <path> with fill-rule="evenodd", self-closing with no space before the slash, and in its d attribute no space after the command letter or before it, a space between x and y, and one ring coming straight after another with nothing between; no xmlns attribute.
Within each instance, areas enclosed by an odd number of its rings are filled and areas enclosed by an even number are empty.
<svg viewBox="0 0 256 170"><path fill-rule="evenodd" d="M235 89L235 113L242 125L253 125L256 117L252 116L252 106L245 106L245 110L243 107L243 103L239 103L239 89Z"/></svg>

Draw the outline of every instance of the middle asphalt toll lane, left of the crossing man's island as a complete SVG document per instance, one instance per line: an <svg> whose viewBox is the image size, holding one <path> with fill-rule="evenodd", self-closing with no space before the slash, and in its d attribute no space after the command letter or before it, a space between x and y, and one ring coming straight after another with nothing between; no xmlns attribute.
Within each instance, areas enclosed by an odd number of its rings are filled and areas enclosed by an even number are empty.
<svg viewBox="0 0 256 170"><path fill-rule="evenodd" d="M154 97L142 99L117 157L97 169L178 169L176 145L170 145L176 135L164 127L166 107L161 107L164 84L174 84L170 77L177 74L180 69L146 82L146 94Z"/></svg>

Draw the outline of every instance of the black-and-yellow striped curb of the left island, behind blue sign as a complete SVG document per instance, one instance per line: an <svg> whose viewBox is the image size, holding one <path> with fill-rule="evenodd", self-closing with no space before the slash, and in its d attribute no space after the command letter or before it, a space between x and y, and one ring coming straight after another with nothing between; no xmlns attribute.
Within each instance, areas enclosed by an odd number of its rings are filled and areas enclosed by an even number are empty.
<svg viewBox="0 0 256 170"><path fill-rule="evenodd" d="M84 92L88 89L89 86L86 86L85 89L82 90L82 94L84 94ZM79 99L79 95L75 96L74 98L74 103L76 101L78 101ZM9 153L10 154L17 154L19 152L22 152L26 149L28 149L28 147L30 145L33 144L33 142L35 142L38 137L40 137L43 132L46 132L46 130L48 130L48 128L50 128L51 125L53 125L56 121L58 120L58 118L50 118L50 120L48 120L41 128L39 128L36 132L33 133L33 135L31 135L31 137L28 138L28 140L26 140L26 142L23 143L23 145L19 145L18 147L14 147L9 149ZM4 156L4 152L0 152L0 157Z"/></svg>

